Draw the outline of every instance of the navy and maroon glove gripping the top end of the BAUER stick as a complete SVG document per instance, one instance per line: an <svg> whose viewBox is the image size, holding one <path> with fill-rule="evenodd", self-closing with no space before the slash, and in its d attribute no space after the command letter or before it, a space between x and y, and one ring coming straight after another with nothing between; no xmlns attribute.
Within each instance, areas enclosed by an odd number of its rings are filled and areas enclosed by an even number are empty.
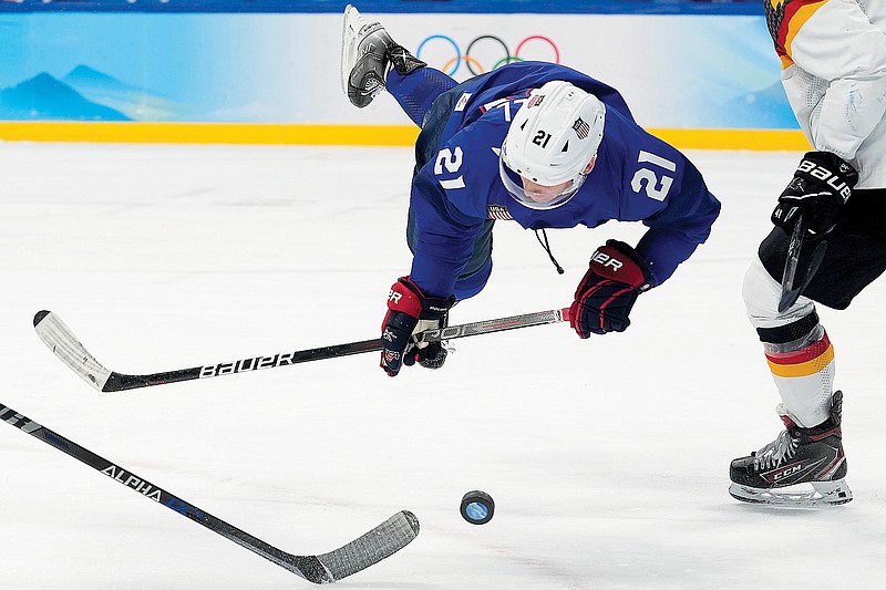
<svg viewBox="0 0 886 590"><path fill-rule="evenodd" d="M569 324L579 338L624 332L637 297L653 284L649 265L624 241L608 240L588 266L569 308Z"/></svg>

